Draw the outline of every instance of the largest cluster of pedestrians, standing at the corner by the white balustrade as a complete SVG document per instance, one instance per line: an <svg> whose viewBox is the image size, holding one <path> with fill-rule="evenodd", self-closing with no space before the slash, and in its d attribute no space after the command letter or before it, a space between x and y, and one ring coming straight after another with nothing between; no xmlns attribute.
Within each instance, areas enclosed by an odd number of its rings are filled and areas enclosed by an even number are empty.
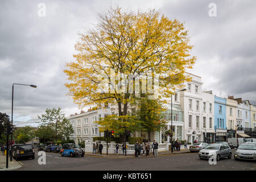
<svg viewBox="0 0 256 182"><path fill-rule="evenodd" d="M143 151L142 155L145 155L145 152L146 152L146 157L147 157L149 155L150 149L153 150L152 154L154 156L158 156L158 142L156 140L154 140L152 144L150 144L150 141L143 142L142 144L137 141L134 144L135 158L141 156L141 151Z"/></svg>

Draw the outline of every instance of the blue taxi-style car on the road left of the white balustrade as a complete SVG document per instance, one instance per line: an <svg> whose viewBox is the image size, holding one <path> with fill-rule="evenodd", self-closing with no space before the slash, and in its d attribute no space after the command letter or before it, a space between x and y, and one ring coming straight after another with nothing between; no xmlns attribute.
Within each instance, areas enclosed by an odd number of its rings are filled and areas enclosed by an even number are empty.
<svg viewBox="0 0 256 182"><path fill-rule="evenodd" d="M63 152L61 152L61 156L75 157L77 155L80 155L82 157L84 156L84 150L82 150L78 144L75 144L75 143L63 144Z"/></svg>

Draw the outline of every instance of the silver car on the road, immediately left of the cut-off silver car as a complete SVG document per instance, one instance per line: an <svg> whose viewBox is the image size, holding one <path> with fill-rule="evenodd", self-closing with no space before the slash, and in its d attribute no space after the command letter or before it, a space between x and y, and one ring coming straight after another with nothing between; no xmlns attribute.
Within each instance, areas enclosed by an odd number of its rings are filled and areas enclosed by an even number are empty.
<svg viewBox="0 0 256 182"><path fill-rule="evenodd" d="M232 150L228 144L208 144L205 148L199 151L200 159L209 159L212 156L216 155L216 159L220 160L221 158L232 158Z"/></svg>

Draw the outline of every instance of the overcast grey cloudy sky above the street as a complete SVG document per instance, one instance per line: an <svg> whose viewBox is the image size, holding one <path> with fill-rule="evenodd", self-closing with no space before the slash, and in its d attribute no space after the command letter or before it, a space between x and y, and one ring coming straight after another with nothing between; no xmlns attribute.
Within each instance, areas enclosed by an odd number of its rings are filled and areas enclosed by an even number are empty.
<svg viewBox="0 0 256 182"><path fill-rule="evenodd" d="M38 5L45 3L46 16ZM209 3L217 16L210 17ZM97 13L110 6L123 9L155 8L170 19L185 22L195 67L204 90L222 97L233 95L256 104L256 1L0 1L0 112L11 114L11 85L16 86L14 124L36 126L46 108L79 112L66 96L65 63L73 60L78 33L97 23Z"/></svg>

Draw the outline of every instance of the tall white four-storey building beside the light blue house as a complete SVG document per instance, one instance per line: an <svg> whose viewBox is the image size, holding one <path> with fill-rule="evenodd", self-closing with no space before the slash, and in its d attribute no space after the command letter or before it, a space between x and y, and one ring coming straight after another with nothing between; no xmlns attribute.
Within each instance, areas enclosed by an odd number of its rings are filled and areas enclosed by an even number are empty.
<svg viewBox="0 0 256 182"><path fill-rule="evenodd" d="M187 91L180 93L180 105L184 111L184 139L193 143L214 142L214 95L203 92L201 77L186 73L192 77L184 84Z"/></svg>

